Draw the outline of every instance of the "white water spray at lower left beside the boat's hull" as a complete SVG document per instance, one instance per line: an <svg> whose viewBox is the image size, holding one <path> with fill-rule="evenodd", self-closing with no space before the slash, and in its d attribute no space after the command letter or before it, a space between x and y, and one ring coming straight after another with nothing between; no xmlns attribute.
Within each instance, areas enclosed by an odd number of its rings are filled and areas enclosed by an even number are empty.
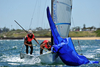
<svg viewBox="0 0 100 67"><path fill-rule="evenodd" d="M32 59L20 59L19 55L3 55L1 58L2 62L8 62L10 65L20 65L20 64L29 64L29 65L34 65L37 63L40 63L41 60L38 57L33 57Z"/></svg>

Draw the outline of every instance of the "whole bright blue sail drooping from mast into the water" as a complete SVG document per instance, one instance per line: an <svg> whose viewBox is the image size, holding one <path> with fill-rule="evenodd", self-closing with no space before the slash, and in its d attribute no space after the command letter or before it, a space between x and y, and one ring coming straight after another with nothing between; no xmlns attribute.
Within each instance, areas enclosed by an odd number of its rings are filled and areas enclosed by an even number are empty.
<svg viewBox="0 0 100 67"><path fill-rule="evenodd" d="M51 18L49 7L47 7L47 17L55 43L55 45L52 46L52 48L54 48L52 51L57 52L66 65L79 66L87 63L99 63L98 61L89 61L85 56L78 55L70 37L65 39L60 37Z"/></svg>

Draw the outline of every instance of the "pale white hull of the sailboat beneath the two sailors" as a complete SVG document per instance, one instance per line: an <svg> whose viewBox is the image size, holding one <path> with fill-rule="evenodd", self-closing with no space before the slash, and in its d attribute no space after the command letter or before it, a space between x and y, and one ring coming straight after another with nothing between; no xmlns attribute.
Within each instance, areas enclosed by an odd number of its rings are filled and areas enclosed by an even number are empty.
<svg viewBox="0 0 100 67"><path fill-rule="evenodd" d="M32 59L32 58L39 58L41 60L41 63L45 63L45 64L62 64L62 60L60 59L60 57L57 55L57 53L46 53L46 54L42 54L39 56L34 56L34 55L28 55L28 54L20 54L20 58L21 59Z"/></svg>

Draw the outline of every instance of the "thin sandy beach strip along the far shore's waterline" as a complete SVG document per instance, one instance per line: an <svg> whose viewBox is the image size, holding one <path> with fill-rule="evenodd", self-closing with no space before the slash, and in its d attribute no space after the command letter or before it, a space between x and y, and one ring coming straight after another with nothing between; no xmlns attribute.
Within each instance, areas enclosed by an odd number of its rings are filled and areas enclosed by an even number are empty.
<svg viewBox="0 0 100 67"><path fill-rule="evenodd" d="M14 38L0 38L0 40L15 40L15 39L23 39L23 37L14 37ZM50 37L36 37L37 40L51 40ZM100 37L71 37L72 40L100 40Z"/></svg>

